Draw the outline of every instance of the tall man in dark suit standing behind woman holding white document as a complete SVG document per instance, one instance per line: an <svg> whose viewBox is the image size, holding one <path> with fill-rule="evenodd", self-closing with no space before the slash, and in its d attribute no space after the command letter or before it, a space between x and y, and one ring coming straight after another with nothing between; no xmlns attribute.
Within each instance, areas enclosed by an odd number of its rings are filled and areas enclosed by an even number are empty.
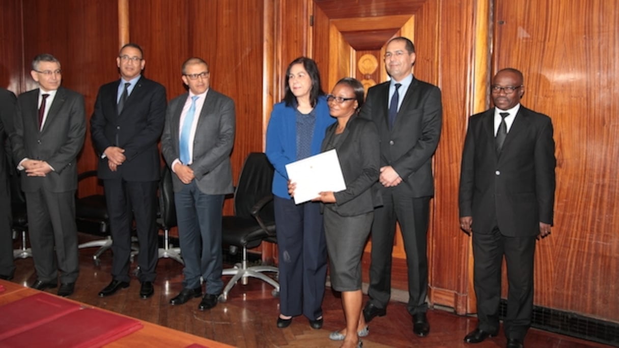
<svg viewBox="0 0 619 348"><path fill-rule="evenodd" d="M386 314L391 297L391 253L396 220L402 230L409 276L408 310L413 332L426 336L428 258L426 233L430 199L434 195L432 155L441 134L441 91L415 79L415 46L404 37L392 38L385 50L391 80L368 90L361 116L376 123L380 136L381 174L376 183L384 206L374 212L370 264L370 300L363 316L370 321Z"/></svg>

